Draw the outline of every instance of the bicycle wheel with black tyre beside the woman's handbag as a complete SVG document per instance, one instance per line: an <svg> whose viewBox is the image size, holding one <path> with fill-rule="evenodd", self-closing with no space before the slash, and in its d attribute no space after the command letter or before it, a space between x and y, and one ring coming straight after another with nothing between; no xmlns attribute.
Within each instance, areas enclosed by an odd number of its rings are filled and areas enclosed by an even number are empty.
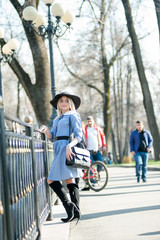
<svg viewBox="0 0 160 240"><path fill-rule="evenodd" d="M108 183L108 170L103 162L93 162L86 174L88 185L95 192L104 189Z"/></svg>

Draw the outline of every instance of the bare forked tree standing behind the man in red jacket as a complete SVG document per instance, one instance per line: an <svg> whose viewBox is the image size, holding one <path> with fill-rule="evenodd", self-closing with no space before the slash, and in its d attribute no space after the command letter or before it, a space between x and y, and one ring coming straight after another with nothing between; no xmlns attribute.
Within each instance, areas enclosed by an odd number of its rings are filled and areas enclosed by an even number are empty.
<svg viewBox="0 0 160 240"><path fill-rule="evenodd" d="M98 6L99 17L97 17L95 13L96 10L95 10L95 7L93 7L93 2L91 1L88 1L88 2L91 6L91 9L94 15L93 22L92 22L92 25L94 24L94 28L93 30L91 30L90 43L88 44L88 48L86 48L87 50L86 55L83 52L82 60L78 58L77 65L80 71L78 71L77 69L73 70L73 65L77 67L76 59L75 59L77 55L75 56L74 59L72 57L72 61L68 63L69 61L66 60L66 58L61 53L61 51L60 53L69 73L74 78L82 81L89 88L93 88L95 91L97 91L98 94L100 94L102 99L102 108L103 108L104 132L108 139L110 134L110 128L111 128L110 69L113 66L113 63L116 61L118 54L125 46L128 36L119 43L114 54L109 58L107 56L105 34L106 34L106 20L111 11L112 1L110 0L108 2L107 7L106 7L105 0L100 0L99 5L95 3L95 5ZM91 45L92 45L92 48L91 48ZM78 48L80 48L80 43ZM92 53L93 55L91 54L89 55L89 53ZM72 53L71 56L74 56L74 53ZM85 60L84 60L84 56L85 56ZM90 68L88 68L88 66L85 68L84 61L87 62L87 64L89 64L90 62L92 63L93 59L97 61L96 66L92 65L90 66ZM72 67L70 67L71 63L72 63ZM85 70L85 74L82 73L83 72L82 69ZM97 74L97 72L99 74Z"/></svg>

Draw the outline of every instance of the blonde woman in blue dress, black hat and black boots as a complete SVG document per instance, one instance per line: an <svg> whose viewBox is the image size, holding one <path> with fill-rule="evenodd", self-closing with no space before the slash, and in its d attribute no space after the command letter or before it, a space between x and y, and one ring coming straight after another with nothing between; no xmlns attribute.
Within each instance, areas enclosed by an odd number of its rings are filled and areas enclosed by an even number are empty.
<svg viewBox="0 0 160 240"><path fill-rule="evenodd" d="M68 214L67 218L61 220L63 222L69 222L75 218L79 220L79 189L74 179L81 176L81 170L68 167L66 158L68 160L72 158L74 153L71 147L82 140L81 119L76 112L81 99L76 95L62 92L57 94L50 103L58 110L58 117L54 120L51 131L46 126L41 127L41 131L46 134L47 138L54 142L54 160L47 182L62 201ZM74 134L74 138L69 142L71 134ZM60 183L62 180L65 180L67 184L72 202L69 201Z"/></svg>

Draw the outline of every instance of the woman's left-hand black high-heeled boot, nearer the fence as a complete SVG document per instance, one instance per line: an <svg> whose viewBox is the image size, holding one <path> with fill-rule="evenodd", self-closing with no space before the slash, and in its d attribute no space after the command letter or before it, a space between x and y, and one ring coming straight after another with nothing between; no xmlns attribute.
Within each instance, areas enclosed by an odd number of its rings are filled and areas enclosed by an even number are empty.
<svg viewBox="0 0 160 240"><path fill-rule="evenodd" d="M74 209L76 208L75 204L70 202L65 189L59 181L54 181L49 186L54 190L57 196L60 198L63 206L68 214L67 218L61 218L63 222L70 222L74 218Z"/></svg>

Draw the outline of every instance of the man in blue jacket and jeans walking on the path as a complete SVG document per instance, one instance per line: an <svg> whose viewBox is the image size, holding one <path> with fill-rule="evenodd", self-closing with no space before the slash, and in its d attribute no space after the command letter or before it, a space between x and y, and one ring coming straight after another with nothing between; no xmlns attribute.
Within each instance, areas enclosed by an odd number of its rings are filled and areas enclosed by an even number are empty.
<svg viewBox="0 0 160 240"><path fill-rule="evenodd" d="M130 151L136 162L137 182L140 182L142 171L142 180L146 182L148 153L153 144L151 133L144 129L142 121L136 122L136 129L130 135Z"/></svg>

